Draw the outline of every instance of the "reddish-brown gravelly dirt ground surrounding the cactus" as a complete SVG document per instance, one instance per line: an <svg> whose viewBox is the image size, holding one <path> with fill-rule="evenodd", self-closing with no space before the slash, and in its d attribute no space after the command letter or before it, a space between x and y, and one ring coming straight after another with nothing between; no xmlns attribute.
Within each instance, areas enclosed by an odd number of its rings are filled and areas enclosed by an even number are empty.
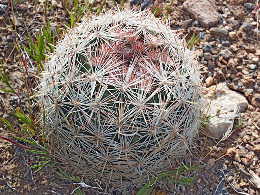
<svg viewBox="0 0 260 195"><path fill-rule="evenodd" d="M20 43L25 45L29 43L26 29L32 37L40 32L44 21L44 1L20 0L14 7ZM256 7L256 0L216 0L218 14L222 20L214 27L227 26L227 28L234 29L237 34L234 39L228 35L225 37L212 35L210 27L202 27L197 20L190 20L191 17L188 14L180 11L184 1L175 0L173 2L174 9L170 12L171 27L184 29L183 36L188 34L188 38L192 34L200 36L195 51L199 53L200 63L204 64L203 71L206 72L203 73L204 86L209 87L212 84L226 81L232 90L239 91L247 98L249 105L247 110L241 114L242 128L235 130L226 141L215 147L203 163L209 163L229 151L232 151L231 153L206 168L193 172L192 175L198 174L199 176L190 186L167 185L166 188L161 184L156 190L161 189L164 192L154 192L153 194L260 195L260 178L256 177L256 181L253 181L250 177L254 174L260 175L260 47L256 38L257 18L255 14L252 14ZM96 1L93 11L100 7L101 2L101 0ZM111 8L112 2L113 0L106 1L106 10ZM156 16L159 16L159 13L167 10L169 3L170 0L155 0L150 8L158 10ZM69 6L65 6L60 0L49 0L48 6L51 4L54 5L46 17L50 20L53 32L57 29L62 30L64 24L69 22L70 16L66 11ZM125 0L125 6L132 7L133 5ZM6 13L1 11L2 7L5 8ZM0 0L0 59L4 63L10 84L19 92L20 98L24 99L27 94L24 76L19 54L13 44L15 36L9 25L8 16L12 17L10 4L8 4L8 0ZM241 29L244 22L248 23L248 30ZM258 36L258 38L260 37ZM208 44L211 46L209 50L206 50L205 45ZM28 60L29 72L35 73L36 62L23 48L22 53ZM211 59L206 59L206 56L209 56L208 53ZM225 54L228 56L225 57ZM0 88L6 88L1 81ZM0 117L8 119L15 126L15 132L10 132L0 123L1 136L11 138L12 135L18 135L19 131L15 125L16 118L12 115L12 111L17 107L27 110L26 104L20 101L16 95L0 90ZM236 125L237 121L235 121L235 127ZM194 159L200 155L204 138L204 135L201 134L195 143ZM209 152L215 144L216 140L208 139L203 155ZM240 146L237 147L238 145ZM35 154L0 139L0 194L71 194L75 186L70 181L60 179L55 173L58 171L57 168L46 166L35 173L35 170L30 168L31 164L28 163L32 161L37 161ZM85 194L93 194L91 190L81 189ZM133 191L132 194L135 192Z"/></svg>

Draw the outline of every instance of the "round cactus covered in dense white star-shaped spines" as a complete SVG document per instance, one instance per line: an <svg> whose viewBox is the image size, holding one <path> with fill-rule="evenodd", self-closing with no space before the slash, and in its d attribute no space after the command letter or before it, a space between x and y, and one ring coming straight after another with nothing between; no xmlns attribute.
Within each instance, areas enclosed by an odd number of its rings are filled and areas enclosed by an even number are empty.
<svg viewBox="0 0 260 195"><path fill-rule="evenodd" d="M150 12L83 18L39 82L50 152L70 175L121 187L174 168L199 125L198 68L184 39Z"/></svg>

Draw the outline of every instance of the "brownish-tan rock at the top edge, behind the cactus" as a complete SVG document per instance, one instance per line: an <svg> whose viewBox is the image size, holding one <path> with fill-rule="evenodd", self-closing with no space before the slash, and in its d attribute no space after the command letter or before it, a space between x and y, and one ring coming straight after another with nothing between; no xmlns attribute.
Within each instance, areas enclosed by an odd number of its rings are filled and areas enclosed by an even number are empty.
<svg viewBox="0 0 260 195"><path fill-rule="evenodd" d="M203 27L213 26L218 22L215 0L186 0L183 10Z"/></svg>

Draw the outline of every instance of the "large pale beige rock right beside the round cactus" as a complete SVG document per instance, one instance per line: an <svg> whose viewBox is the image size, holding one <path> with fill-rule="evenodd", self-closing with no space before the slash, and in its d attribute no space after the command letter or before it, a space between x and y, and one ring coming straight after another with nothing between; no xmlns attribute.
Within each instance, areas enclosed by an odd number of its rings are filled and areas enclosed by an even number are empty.
<svg viewBox="0 0 260 195"><path fill-rule="evenodd" d="M205 97L207 98L206 104L208 105L214 89L215 86L209 87L205 94ZM236 113L233 110L240 107L238 112L245 112L247 110L247 106L248 101L242 94L229 89L225 82L219 83L214 94L214 98L212 99L208 115L216 115L219 109L220 113L218 117L213 117L211 119L208 135L215 138L221 138L228 130L233 118L236 116ZM204 114L205 113L206 110L204 111Z"/></svg>

